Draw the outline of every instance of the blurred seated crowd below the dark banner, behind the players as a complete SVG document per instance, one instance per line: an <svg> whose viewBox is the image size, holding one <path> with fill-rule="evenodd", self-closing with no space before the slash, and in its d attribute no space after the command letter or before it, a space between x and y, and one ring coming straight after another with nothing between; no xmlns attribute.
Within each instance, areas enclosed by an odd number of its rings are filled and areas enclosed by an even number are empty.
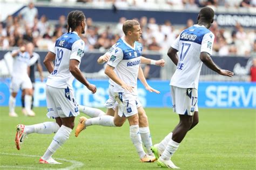
<svg viewBox="0 0 256 170"><path fill-rule="evenodd" d="M194 24L192 19L187 20L184 27L172 25L170 20L159 25L155 18L134 19L139 21L142 28L140 42L144 45L144 49L152 51L167 51L179 33ZM122 25L125 20L126 18L122 17L116 25L104 25L94 23L92 18L87 18L87 32L83 36L86 51L100 49L104 52L105 49L110 48L123 36ZM227 30L220 28L216 22L212 24L210 30L215 34L213 55L256 56L255 30L245 30L240 24ZM3 23L0 23L0 46L8 49L29 41L38 48L49 49L55 45L56 39L66 32L65 16L60 16L57 22L49 22L44 15L38 19L38 11L33 3L30 3L18 16L8 16Z"/></svg>

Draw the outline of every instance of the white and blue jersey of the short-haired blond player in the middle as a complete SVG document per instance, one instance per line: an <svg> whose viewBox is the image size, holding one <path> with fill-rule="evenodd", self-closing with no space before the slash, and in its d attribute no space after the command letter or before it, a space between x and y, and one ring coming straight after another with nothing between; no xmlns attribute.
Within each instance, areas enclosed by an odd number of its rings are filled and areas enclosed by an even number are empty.
<svg viewBox="0 0 256 170"><path fill-rule="evenodd" d="M124 38L120 38L114 44L107 54L110 59L108 65L114 67L114 72L119 79L126 84L133 86L133 95L137 95L137 79L140 67L140 58L142 56L142 44L134 42L134 47L131 47ZM110 79L110 84L114 86L114 93L124 92L125 90Z"/></svg>

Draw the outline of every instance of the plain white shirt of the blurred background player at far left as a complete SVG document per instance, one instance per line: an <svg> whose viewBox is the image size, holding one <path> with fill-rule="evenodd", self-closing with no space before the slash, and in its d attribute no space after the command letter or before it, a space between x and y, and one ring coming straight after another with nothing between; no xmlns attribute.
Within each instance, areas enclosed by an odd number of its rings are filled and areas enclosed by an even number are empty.
<svg viewBox="0 0 256 170"><path fill-rule="evenodd" d="M12 53L15 53L15 51ZM14 57L12 77L22 78L24 76L28 76L28 66L33 65L38 60L38 58L39 55L35 55L30 58L28 52L19 52L17 56Z"/></svg>

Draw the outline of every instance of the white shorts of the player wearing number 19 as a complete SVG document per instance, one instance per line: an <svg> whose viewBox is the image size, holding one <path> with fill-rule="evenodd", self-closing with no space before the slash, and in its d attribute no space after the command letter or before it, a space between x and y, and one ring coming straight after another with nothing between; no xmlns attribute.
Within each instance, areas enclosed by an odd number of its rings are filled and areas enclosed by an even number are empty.
<svg viewBox="0 0 256 170"><path fill-rule="evenodd" d="M74 93L69 88L55 88L51 86L46 89L46 104L49 118L72 117L79 115Z"/></svg>

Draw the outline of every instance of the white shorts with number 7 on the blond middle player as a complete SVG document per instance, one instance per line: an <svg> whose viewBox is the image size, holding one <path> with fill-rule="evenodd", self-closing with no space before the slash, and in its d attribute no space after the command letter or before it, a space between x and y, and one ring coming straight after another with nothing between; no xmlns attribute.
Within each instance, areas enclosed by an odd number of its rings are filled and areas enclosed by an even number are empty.
<svg viewBox="0 0 256 170"><path fill-rule="evenodd" d="M130 93L114 93L118 102L118 116L130 117L138 114L136 96Z"/></svg>

